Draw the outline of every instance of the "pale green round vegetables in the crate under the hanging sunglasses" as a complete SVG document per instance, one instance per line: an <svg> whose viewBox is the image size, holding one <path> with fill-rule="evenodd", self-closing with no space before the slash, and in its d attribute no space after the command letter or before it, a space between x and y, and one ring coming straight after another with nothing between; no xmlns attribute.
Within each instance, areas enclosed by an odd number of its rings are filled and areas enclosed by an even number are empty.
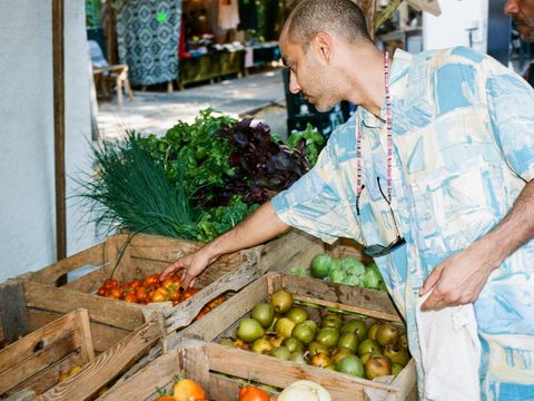
<svg viewBox="0 0 534 401"><path fill-rule="evenodd" d="M313 257L309 268L293 267L291 274L312 276L364 288L387 291L376 264L373 262L366 266L362 261L353 256L337 258L326 253L319 253Z"/></svg>

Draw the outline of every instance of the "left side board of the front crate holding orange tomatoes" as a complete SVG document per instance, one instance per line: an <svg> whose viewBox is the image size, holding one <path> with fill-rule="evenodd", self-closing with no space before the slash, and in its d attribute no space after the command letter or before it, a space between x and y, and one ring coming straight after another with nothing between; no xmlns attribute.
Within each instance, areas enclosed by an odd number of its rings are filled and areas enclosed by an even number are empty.
<svg viewBox="0 0 534 401"><path fill-rule="evenodd" d="M178 350L158 358L132 375L120 387L112 387L99 401L146 400L155 393L156 388L165 388L172 383L175 374L184 373L179 364Z"/></svg>

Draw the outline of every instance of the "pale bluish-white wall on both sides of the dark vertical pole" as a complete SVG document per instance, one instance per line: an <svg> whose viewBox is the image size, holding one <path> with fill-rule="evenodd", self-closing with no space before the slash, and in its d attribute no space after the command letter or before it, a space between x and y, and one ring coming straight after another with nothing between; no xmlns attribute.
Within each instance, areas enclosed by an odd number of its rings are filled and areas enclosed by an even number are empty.
<svg viewBox="0 0 534 401"><path fill-rule="evenodd" d="M89 172L83 0L66 7L66 170ZM56 261L51 0L0 1L0 282ZM75 183L67 178L67 195ZM69 202L68 254L96 242Z"/></svg>

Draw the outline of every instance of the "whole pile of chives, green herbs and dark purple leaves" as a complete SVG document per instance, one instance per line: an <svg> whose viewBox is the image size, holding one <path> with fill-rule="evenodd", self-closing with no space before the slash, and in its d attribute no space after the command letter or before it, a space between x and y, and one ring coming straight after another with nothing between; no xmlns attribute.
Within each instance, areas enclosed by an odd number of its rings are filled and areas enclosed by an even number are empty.
<svg viewBox="0 0 534 401"><path fill-rule="evenodd" d="M78 179L78 195L105 234L127 228L208 242L304 175L313 165L307 154L315 160L324 145L310 128L289 139L206 109L161 137L129 131L96 145L97 174Z"/></svg>

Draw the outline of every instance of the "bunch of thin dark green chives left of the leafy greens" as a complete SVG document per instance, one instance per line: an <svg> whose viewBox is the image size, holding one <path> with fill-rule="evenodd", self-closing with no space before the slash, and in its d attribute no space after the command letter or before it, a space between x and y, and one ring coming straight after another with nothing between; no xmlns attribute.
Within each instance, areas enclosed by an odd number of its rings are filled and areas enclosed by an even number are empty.
<svg viewBox="0 0 534 401"><path fill-rule="evenodd" d="M160 163L142 146L141 137L127 133L119 143L105 141L93 147L97 175L87 176L80 197L99 229L107 234L118 227L185 239L197 237L200 211L190 204L191 193L172 186ZM184 168L175 160L177 183Z"/></svg>

